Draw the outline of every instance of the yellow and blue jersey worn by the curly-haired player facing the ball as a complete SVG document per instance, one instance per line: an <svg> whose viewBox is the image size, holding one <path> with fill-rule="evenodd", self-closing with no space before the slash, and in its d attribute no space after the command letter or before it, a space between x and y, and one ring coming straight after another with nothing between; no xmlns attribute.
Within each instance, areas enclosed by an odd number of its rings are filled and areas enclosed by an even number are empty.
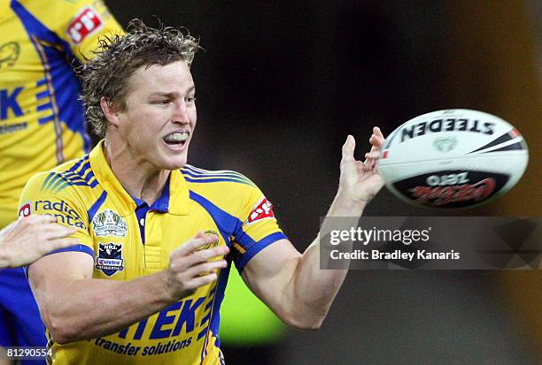
<svg viewBox="0 0 542 365"><path fill-rule="evenodd" d="M285 238L271 203L242 174L186 165L170 172L163 193L148 206L120 185L103 144L32 178L19 208L21 216L50 214L76 227L79 245L60 251L91 255L93 278L130 280L166 270L170 253L199 231L215 232L217 244L230 247L226 259L237 270ZM229 267L216 282L119 333L67 345L49 338L53 363L221 364L219 311Z"/></svg>

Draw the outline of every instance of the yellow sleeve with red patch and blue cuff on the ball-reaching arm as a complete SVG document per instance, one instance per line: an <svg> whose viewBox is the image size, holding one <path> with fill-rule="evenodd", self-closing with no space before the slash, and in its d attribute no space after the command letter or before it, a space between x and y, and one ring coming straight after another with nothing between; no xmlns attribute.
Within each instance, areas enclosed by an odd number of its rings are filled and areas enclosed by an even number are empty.
<svg viewBox="0 0 542 365"><path fill-rule="evenodd" d="M244 266L259 251L277 240L287 239L273 212L273 204L258 187L253 186L246 194L240 214L242 224L237 228L233 240L233 257L236 268Z"/></svg>

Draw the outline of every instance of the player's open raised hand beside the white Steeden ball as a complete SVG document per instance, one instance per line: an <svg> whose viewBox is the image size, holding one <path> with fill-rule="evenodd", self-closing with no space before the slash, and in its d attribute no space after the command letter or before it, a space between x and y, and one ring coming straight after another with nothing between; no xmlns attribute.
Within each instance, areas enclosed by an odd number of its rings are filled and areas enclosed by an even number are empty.
<svg viewBox="0 0 542 365"><path fill-rule="evenodd" d="M384 137L380 128L373 128L369 138L370 152L365 154L365 161L356 161L354 149L356 141L349 135L343 146L341 160L341 177L339 179L339 194L352 199L353 202L368 203L383 186L383 179L378 172L376 160L383 147Z"/></svg>

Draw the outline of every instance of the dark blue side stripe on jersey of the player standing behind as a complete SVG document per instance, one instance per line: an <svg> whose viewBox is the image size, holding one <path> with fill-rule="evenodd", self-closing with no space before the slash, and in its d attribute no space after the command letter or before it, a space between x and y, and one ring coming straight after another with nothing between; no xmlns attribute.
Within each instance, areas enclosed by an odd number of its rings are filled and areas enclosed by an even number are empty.
<svg viewBox="0 0 542 365"><path fill-rule="evenodd" d="M43 43L35 44L36 51L42 57L43 69L50 70L51 85L48 83L48 97L51 98L53 105L56 103L56 108L53 110L58 113L58 120L65 123L74 133L80 134L84 141L85 151L89 151L90 139L85 131L85 110L80 101L74 100L74 95L81 94L81 84L74 77L70 64L73 62L74 65L79 65L79 60L74 56L66 41L45 27L19 1L12 0L11 6L27 30L30 40L52 43L53 46ZM59 52L54 45L60 45L63 52ZM41 49L43 49L43 54L40 52ZM66 60L66 55L71 58L70 61Z"/></svg>

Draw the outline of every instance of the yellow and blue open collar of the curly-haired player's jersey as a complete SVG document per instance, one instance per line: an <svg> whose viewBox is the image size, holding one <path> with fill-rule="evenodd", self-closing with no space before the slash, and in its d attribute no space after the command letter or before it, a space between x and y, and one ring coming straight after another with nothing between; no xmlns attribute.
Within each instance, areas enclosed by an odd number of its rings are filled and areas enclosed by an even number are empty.
<svg viewBox="0 0 542 365"><path fill-rule="evenodd" d="M121 217L127 217L136 211L137 204L134 199L128 194L119 179L113 173L111 166L107 163L104 153L104 141L100 141L95 148L90 151L89 156L90 167L96 176L100 186L107 192L108 198L111 199ZM152 204L157 207L158 211L168 212L175 216L184 216L189 214L189 189L186 180L182 176L181 171L171 171L166 189L162 192L159 200Z"/></svg>

